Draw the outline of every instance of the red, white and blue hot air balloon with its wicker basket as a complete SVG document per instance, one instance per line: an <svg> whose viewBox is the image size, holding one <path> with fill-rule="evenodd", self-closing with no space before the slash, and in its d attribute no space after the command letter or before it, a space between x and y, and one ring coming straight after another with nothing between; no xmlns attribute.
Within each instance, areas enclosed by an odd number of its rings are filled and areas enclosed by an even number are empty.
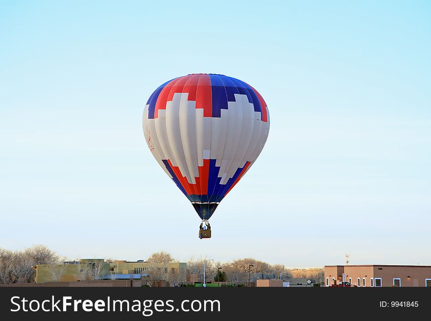
<svg viewBox="0 0 431 321"><path fill-rule="evenodd" d="M169 80L148 99L148 147L202 219L199 238L217 205L250 169L269 132L265 101L252 86L218 74Z"/></svg>

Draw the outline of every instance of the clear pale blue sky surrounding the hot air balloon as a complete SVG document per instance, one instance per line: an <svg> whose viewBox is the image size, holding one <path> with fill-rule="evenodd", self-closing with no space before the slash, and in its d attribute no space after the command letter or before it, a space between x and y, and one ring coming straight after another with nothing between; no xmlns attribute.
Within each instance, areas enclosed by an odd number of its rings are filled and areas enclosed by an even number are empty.
<svg viewBox="0 0 431 321"><path fill-rule="evenodd" d="M430 1L1 1L0 247L431 265L430 57ZM271 117L204 240L142 130L190 73Z"/></svg>

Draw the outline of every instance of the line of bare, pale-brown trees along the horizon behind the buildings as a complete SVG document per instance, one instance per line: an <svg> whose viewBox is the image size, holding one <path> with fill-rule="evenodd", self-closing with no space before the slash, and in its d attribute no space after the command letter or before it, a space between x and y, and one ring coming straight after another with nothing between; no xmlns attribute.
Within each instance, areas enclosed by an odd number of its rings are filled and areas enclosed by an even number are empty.
<svg viewBox="0 0 431 321"><path fill-rule="evenodd" d="M27 283L34 281L34 268L37 264L52 264L49 274L51 281L59 281L65 271L66 257L62 257L50 250L45 245L34 245L23 251L10 251L0 248L0 284ZM108 258L106 262L114 262L116 259ZM187 271L175 271L167 273L165 267L168 263L179 262L168 252L153 253L147 258L150 267L146 273L154 280L185 281L186 275L197 276L198 281L204 277L208 281L246 282L249 275L262 273L271 278L307 278L311 282L322 281L322 268L288 269L283 264L269 264L261 260L247 257L234 259L229 262L219 262L208 258L191 257L187 263ZM205 263L205 276L204 267ZM101 273L100 266L88 268L76 267L76 278L80 280L95 279ZM272 276L271 276L272 275ZM113 274L113 278L115 275Z"/></svg>

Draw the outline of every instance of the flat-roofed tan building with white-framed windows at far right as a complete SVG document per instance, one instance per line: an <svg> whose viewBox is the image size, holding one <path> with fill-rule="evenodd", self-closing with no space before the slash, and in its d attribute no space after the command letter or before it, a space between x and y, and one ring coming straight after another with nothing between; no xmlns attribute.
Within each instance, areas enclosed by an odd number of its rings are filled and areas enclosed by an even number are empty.
<svg viewBox="0 0 431 321"><path fill-rule="evenodd" d="M325 286L343 281L358 287L431 287L430 265L325 265Z"/></svg>

